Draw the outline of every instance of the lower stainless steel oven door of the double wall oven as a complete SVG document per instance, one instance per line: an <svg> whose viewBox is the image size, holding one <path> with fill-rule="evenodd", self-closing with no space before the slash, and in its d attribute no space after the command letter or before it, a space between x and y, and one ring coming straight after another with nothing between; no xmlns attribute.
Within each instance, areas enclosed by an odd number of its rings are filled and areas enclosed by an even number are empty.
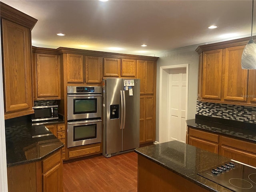
<svg viewBox="0 0 256 192"><path fill-rule="evenodd" d="M68 148L102 141L102 120L68 122Z"/></svg>

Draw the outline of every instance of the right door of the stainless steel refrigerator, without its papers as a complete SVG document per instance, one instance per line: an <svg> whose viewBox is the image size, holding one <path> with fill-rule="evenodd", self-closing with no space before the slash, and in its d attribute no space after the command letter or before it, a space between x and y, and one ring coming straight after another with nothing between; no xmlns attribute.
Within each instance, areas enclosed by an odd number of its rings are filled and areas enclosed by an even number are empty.
<svg viewBox="0 0 256 192"><path fill-rule="evenodd" d="M134 79L132 92L133 95L129 96L129 91L124 91L126 112L123 127L123 151L139 147L140 143L140 80Z"/></svg>

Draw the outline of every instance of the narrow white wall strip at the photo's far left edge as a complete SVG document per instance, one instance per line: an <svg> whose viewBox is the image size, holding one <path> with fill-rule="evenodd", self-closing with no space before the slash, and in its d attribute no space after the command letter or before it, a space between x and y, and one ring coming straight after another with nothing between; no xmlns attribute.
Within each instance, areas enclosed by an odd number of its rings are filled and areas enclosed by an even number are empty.
<svg viewBox="0 0 256 192"><path fill-rule="evenodd" d="M1 32L0 32L1 36ZM1 44L1 40L0 40ZM2 50L0 47L0 192L7 192L7 166L4 126L4 88L2 76Z"/></svg>

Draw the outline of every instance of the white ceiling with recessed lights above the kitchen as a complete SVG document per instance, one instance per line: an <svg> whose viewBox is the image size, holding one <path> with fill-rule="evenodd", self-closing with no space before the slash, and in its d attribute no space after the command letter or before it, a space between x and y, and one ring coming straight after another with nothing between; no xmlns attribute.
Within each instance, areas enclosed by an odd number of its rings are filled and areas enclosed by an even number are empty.
<svg viewBox="0 0 256 192"><path fill-rule="evenodd" d="M251 33L252 0L0 1L38 19L32 30L32 45L37 47L154 56ZM256 13L254 21L253 32ZM219 27L210 30L210 25ZM66 36L56 36L59 32Z"/></svg>

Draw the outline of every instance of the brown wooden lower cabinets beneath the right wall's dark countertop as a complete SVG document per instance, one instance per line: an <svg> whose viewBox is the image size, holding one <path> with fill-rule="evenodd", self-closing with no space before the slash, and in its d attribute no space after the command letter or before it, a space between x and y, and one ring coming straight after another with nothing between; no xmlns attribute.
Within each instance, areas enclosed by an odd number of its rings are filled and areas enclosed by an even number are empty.
<svg viewBox="0 0 256 192"><path fill-rule="evenodd" d="M256 166L256 144L188 127L188 144Z"/></svg>

